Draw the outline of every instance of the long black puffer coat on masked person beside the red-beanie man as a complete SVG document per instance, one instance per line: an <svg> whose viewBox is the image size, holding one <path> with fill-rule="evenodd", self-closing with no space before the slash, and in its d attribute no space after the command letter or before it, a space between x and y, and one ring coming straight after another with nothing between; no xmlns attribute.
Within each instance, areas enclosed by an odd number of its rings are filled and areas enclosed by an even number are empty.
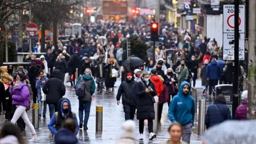
<svg viewBox="0 0 256 144"><path fill-rule="evenodd" d="M146 93L145 90L147 87L151 86L153 92ZM155 110L154 110L154 95L156 95L155 85L150 81L148 85L143 82L138 82L138 107L137 107L137 119L155 119Z"/></svg>

